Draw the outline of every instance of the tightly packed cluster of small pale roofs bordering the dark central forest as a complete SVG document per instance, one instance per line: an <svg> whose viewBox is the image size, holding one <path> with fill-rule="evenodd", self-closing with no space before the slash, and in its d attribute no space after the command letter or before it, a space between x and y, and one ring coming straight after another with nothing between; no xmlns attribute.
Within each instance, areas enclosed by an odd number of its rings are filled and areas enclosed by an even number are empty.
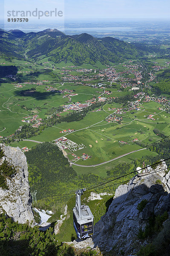
<svg viewBox="0 0 170 256"><path fill-rule="evenodd" d="M61 149L69 149L71 152L85 148L84 144L77 144L72 140L68 140L66 137L61 137L55 140L56 145Z"/></svg>

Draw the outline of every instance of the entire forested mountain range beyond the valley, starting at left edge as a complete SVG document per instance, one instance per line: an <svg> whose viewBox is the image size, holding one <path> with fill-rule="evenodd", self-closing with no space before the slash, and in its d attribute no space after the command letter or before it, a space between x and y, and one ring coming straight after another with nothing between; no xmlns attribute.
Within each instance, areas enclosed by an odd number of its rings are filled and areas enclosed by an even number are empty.
<svg viewBox="0 0 170 256"><path fill-rule="evenodd" d="M72 61L78 65L95 64L97 61L102 64L121 62L149 52L144 45L135 46L111 37L94 38L87 33L69 36L58 29L45 29L37 33L24 33L18 29L0 31L0 44L3 46L3 56L6 53L8 57L25 58L27 51L28 58L35 61L37 58L43 59L45 55L55 63Z"/></svg>

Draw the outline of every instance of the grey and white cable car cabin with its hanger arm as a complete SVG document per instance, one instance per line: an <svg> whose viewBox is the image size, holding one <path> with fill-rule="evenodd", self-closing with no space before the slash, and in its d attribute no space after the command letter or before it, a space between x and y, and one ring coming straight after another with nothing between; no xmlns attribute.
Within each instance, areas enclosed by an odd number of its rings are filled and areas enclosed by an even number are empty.
<svg viewBox="0 0 170 256"><path fill-rule="evenodd" d="M83 240L93 236L94 217L87 205L81 205L81 195L85 189L78 190L75 207L73 208L73 225L79 239Z"/></svg>

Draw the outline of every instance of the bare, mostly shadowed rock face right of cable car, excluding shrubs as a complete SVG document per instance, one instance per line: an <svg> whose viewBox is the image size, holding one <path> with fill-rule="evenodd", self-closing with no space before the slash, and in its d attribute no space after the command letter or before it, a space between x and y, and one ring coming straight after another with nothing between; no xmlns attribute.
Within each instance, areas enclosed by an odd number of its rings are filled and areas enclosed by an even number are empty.
<svg viewBox="0 0 170 256"><path fill-rule="evenodd" d="M164 170L158 172L160 169ZM149 175L135 176L127 185L119 186L108 212L95 224L94 246L105 251L114 248L116 255L122 255L122 251L136 255L142 245L137 234L139 229L144 231L150 215L167 211L170 216L169 193L170 172L164 162L150 169ZM138 204L144 199L148 203L139 212Z"/></svg>

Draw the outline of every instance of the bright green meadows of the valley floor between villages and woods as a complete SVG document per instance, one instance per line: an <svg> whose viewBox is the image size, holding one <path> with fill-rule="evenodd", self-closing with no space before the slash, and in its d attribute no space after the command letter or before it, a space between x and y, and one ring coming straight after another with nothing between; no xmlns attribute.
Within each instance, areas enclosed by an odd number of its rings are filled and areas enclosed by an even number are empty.
<svg viewBox="0 0 170 256"><path fill-rule="evenodd" d="M4 61L3 59L0 61ZM160 65L164 65L167 59L158 59L156 60ZM47 63L44 63L47 62ZM26 64L27 63L27 64ZM42 63L40 65L40 63ZM126 71L127 67L123 67L124 64L129 63L124 62L122 64L116 64L114 66L117 72ZM64 104L69 104L68 98L63 98L63 95L67 93L55 93L48 92L45 90L45 86L52 86L56 89L64 90L74 90L74 93L77 93L77 96L71 96L71 102L81 102L85 103L87 100L92 99L93 97L98 97L103 92L101 88L93 88L88 85L76 85L74 82L61 82L63 67L66 67L67 70L72 70L70 72L71 75L81 76L82 72L77 72L77 68L82 69L96 69L99 72L99 68L106 69L105 65L102 65L100 62L95 65L83 64L80 67L75 67L71 62L61 62L60 64L55 64L52 61L49 61L48 58L44 55L44 58L37 63L32 63L29 61L19 61L13 59L12 62L7 62L6 65L16 65L18 70L20 71L29 71L29 70L37 70L39 73L35 74L34 79L30 77L31 83L24 84L22 88L14 87L14 81L8 81L7 83L1 83L0 86L0 136L7 137L12 135L17 128L23 125L24 116L34 116L38 115L39 118L45 119L49 114L52 113L52 108L58 108ZM132 64L135 64L133 62ZM55 67L55 70L52 71L52 66ZM72 67L74 66L74 67ZM48 74L44 73L46 72ZM57 75L56 78L52 77L51 72L54 75ZM95 73L92 73L95 75ZM88 76L88 74L87 74ZM26 73L23 73L23 77L27 77ZM135 76L133 74L124 75L125 79L134 79ZM41 81L42 84L37 84L36 81ZM48 80L44 81L43 80ZM100 80L95 81L86 81L86 84L96 84ZM109 81L101 81L106 84L106 86L110 85ZM153 83L153 82L152 82ZM152 84L150 83L150 84ZM115 84L115 83L113 83ZM130 87L127 87L123 91L118 91L118 88L121 87L121 82L115 84L116 88L108 87L107 90L111 90L112 94L103 95L106 98L110 97L122 97L130 94ZM22 96L20 93L23 90L31 89L32 87L36 87L36 92L32 95L24 95ZM115 157L118 157L123 154L127 154L131 151L140 149L139 145L136 145L133 140L138 139L145 143L145 145L155 142L159 139L159 137L154 134L153 129L158 128L165 135L169 133L170 129L170 114L165 111L158 110L161 107L160 104L156 102L144 102L140 103L140 111L124 111L118 116L122 116L122 121L120 124L118 122L110 122L108 123L105 119L109 114L115 112L115 110L108 110L108 108L123 108L123 104L112 103L105 104L101 111L90 112L87 113L84 119L81 121L73 121L73 122L61 122L56 123L55 125L46 128L43 130L40 135L30 137L29 140L36 140L40 142L44 141L52 141L58 139L61 136L67 137L69 140L74 141L75 143L85 145L85 148L75 151L74 153L77 156L80 156L83 153L89 154L91 156L90 159L83 161L78 160L78 164L83 166L95 165L98 163L103 163L105 161L111 160ZM96 111L96 109L95 109ZM54 109L55 112L55 109ZM54 113L53 112L53 113ZM60 113L60 116L65 116L67 113L71 113L72 111L67 111ZM147 119L147 116L150 114L153 115L155 120ZM71 134L61 134L60 131L67 129L74 129L75 132ZM35 129L35 128L34 128ZM127 144L122 144L120 141L124 141ZM12 146L19 146L20 148L27 146L28 148L32 148L36 145L34 142L30 141L19 141L10 143ZM69 150L66 150L68 154L68 158L72 160L72 155ZM113 168L115 164L121 163L122 161L130 163L131 160L134 160L138 157L142 157L145 155L156 155L154 152L150 152L148 150L143 150L139 152L132 153L130 155L124 156L118 160L114 160L111 163L108 163L106 166L96 166L96 167L78 167L73 166L78 174L93 172L95 174L106 176L107 170Z"/></svg>

